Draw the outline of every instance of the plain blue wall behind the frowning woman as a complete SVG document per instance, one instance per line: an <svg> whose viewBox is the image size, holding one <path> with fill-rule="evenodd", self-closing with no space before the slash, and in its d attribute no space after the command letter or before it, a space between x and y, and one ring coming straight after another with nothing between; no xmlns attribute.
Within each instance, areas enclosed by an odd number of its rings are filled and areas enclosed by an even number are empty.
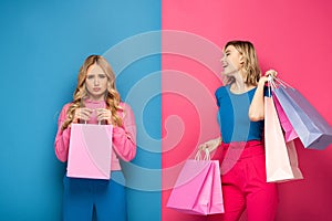
<svg viewBox="0 0 332 221"><path fill-rule="evenodd" d="M72 99L79 67L90 54L104 54L128 38L160 30L160 1L6 0L0 2L0 219L61 220L65 165L56 159L53 143L58 114ZM159 46L159 41L152 43ZM158 54L121 70L116 84L123 99L133 85L158 71ZM158 77L153 81L160 88ZM154 96L144 110L131 105L136 120L144 120L148 135L160 140L160 96ZM143 134L137 131L138 140ZM158 186L160 145L154 148L156 152L146 151L138 144L134 165L155 170L145 181ZM142 182L139 177L138 171L132 178L133 187ZM160 220L156 189L128 189L129 220Z"/></svg>

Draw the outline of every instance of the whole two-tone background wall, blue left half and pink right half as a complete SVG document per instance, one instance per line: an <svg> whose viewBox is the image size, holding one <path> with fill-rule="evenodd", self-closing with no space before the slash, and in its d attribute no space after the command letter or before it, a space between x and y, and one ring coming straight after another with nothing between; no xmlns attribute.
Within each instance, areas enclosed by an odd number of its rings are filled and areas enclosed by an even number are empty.
<svg viewBox="0 0 332 221"><path fill-rule="evenodd" d="M329 0L3 0L0 18L0 220L61 220L56 118L90 54L106 56L136 116L131 221L204 220L166 202L183 161L218 135L229 40L251 41L262 71L276 69L332 124ZM279 185L277 220L331 220L331 147L297 149L304 180Z"/></svg>

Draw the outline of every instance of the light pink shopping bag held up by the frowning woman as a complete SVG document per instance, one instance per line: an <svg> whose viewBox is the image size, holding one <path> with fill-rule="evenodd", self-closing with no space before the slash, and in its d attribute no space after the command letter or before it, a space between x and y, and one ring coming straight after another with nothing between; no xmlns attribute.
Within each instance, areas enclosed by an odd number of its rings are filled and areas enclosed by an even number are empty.
<svg viewBox="0 0 332 221"><path fill-rule="evenodd" d="M110 179L112 125L72 124L66 176Z"/></svg>

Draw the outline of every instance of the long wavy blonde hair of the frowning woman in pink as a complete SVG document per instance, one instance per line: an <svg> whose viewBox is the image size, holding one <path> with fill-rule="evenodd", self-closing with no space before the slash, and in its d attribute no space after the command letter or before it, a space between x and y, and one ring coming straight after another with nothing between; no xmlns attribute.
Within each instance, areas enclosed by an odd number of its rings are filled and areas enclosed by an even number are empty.
<svg viewBox="0 0 332 221"><path fill-rule="evenodd" d="M122 126L122 117L118 116L117 112L123 110L123 108L120 106L121 97L115 88L115 74L108 62L103 56L90 55L85 59L83 65L80 69L77 76L77 86L73 94L73 102L66 112L66 119L62 125L62 129L68 128L68 126L73 122L75 110L79 107L82 107L82 104L84 104L83 101L89 96L85 87L85 80L87 69L93 64L97 64L107 76L108 82L105 93L106 108L108 108L112 113L113 124L115 124L116 126Z"/></svg>

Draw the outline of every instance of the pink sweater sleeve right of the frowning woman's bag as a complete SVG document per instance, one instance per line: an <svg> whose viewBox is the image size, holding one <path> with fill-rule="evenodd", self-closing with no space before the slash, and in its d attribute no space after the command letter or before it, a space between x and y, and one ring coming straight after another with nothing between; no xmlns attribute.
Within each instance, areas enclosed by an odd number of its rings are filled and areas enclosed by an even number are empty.
<svg viewBox="0 0 332 221"><path fill-rule="evenodd" d="M132 108L124 106L123 126L113 128L113 149L125 161L131 161L136 155L136 125Z"/></svg>

